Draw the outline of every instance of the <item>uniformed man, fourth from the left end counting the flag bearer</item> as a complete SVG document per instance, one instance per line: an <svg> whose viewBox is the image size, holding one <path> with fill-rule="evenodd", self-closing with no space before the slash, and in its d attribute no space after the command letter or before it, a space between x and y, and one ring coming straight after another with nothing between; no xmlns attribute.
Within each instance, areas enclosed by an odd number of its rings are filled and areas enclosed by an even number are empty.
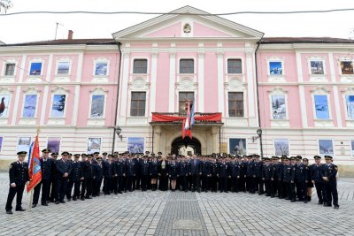
<svg viewBox="0 0 354 236"><path fill-rule="evenodd" d="M68 152L62 152L61 159L57 160L57 197L56 204L65 203L64 196L66 194L66 187L69 181L69 175L72 172L72 166L69 161L66 160Z"/></svg>

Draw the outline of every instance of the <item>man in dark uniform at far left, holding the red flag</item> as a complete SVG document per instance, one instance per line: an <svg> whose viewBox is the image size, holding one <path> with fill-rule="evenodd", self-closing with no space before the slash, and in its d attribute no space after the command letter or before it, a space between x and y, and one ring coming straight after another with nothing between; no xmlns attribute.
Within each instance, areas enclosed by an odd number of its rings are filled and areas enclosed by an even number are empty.
<svg viewBox="0 0 354 236"><path fill-rule="evenodd" d="M12 214L12 201L16 196L16 211L25 211L22 209L22 195L25 186L29 183L28 164L24 162L27 152L20 151L17 153L18 161L10 165L9 177L10 188L6 201L6 214Z"/></svg>

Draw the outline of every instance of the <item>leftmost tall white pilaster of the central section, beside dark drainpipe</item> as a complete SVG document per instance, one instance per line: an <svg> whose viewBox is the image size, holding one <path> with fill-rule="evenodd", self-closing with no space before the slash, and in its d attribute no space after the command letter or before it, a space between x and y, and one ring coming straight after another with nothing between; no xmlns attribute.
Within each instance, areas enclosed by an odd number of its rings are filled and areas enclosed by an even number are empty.
<svg viewBox="0 0 354 236"><path fill-rule="evenodd" d="M119 118L127 117L127 83L129 80L129 60L130 52L123 52L123 70L121 77L121 95L119 95L120 100L120 114Z"/></svg>

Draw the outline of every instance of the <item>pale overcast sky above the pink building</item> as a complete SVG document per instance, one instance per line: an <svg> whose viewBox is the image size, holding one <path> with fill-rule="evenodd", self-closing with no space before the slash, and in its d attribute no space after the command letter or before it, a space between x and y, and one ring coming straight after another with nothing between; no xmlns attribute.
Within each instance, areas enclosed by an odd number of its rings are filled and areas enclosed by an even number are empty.
<svg viewBox="0 0 354 236"><path fill-rule="evenodd" d="M210 13L234 11L311 11L354 8L353 0L12 0L17 11L150 11L168 12L185 5ZM311 14L240 14L224 16L246 27L264 32L266 37L338 37L354 38L354 11ZM73 30L73 38L112 38L126 27L134 26L158 15L91 15L91 14L25 14L0 16L0 41L5 43L65 39Z"/></svg>

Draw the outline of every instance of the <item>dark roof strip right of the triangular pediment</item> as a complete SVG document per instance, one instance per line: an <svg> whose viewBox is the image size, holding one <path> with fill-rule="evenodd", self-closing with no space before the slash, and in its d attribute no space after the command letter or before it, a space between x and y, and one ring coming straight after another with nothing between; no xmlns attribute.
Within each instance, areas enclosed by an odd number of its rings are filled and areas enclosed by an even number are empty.
<svg viewBox="0 0 354 236"><path fill-rule="evenodd" d="M354 40L330 37L264 37L261 42L272 43L354 43Z"/></svg>

